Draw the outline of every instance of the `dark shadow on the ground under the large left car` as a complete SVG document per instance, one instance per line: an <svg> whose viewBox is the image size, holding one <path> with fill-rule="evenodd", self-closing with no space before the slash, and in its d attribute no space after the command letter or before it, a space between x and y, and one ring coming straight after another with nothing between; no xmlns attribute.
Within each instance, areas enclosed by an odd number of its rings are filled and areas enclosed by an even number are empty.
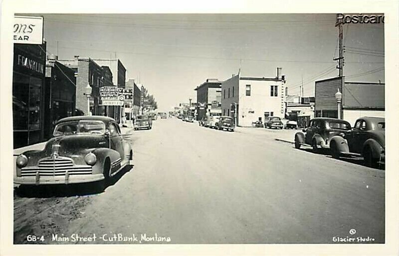
<svg viewBox="0 0 399 256"><path fill-rule="evenodd" d="M126 166L113 176L106 187L113 186L127 172L133 170L133 166ZM69 197L82 195L95 195L102 193L99 189L99 182L79 183L79 184L58 184L58 185L20 185L14 188L14 197L28 198L49 198L49 197Z"/></svg>

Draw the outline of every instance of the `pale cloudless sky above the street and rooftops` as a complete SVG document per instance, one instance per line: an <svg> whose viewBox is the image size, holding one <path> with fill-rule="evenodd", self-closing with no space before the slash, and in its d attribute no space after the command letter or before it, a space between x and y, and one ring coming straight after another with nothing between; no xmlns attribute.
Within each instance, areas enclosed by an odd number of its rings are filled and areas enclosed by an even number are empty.
<svg viewBox="0 0 399 256"><path fill-rule="evenodd" d="M120 59L159 110L196 102L198 85L238 70L275 77L281 67L289 94L303 81L304 96L314 95L315 80L338 76L336 14L39 15L49 53ZM345 24L343 36L346 81L384 83L384 24Z"/></svg>

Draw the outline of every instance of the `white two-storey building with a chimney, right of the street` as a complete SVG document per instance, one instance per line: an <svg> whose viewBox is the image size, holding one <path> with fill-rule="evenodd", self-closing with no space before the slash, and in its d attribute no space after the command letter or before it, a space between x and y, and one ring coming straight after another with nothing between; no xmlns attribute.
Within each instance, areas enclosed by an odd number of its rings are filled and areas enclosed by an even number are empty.
<svg viewBox="0 0 399 256"><path fill-rule="evenodd" d="M275 78L242 77L238 73L221 84L221 114L234 117L235 108L238 126L252 126L252 122L269 116L284 118L284 84L281 68L277 68Z"/></svg>

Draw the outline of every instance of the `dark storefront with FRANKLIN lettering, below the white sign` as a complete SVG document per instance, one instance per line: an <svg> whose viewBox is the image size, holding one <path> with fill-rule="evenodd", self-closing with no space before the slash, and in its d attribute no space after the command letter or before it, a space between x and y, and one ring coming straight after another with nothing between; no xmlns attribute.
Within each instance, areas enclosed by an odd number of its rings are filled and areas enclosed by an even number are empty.
<svg viewBox="0 0 399 256"><path fill-rule="evenodd" d="M14 148L43 140L46 44L14 44L12 113Z"/></svg>

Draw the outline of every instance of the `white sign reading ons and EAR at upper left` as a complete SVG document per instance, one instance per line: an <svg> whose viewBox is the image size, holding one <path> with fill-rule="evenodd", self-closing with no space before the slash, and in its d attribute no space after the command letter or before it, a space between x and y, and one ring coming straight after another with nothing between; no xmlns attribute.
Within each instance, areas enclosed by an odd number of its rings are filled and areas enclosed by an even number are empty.
<svg viewBox="0 0 399 256"><path fill-rule="evenodd" d="M15 44L43 44L43 17L14 16Z"/></svg>

